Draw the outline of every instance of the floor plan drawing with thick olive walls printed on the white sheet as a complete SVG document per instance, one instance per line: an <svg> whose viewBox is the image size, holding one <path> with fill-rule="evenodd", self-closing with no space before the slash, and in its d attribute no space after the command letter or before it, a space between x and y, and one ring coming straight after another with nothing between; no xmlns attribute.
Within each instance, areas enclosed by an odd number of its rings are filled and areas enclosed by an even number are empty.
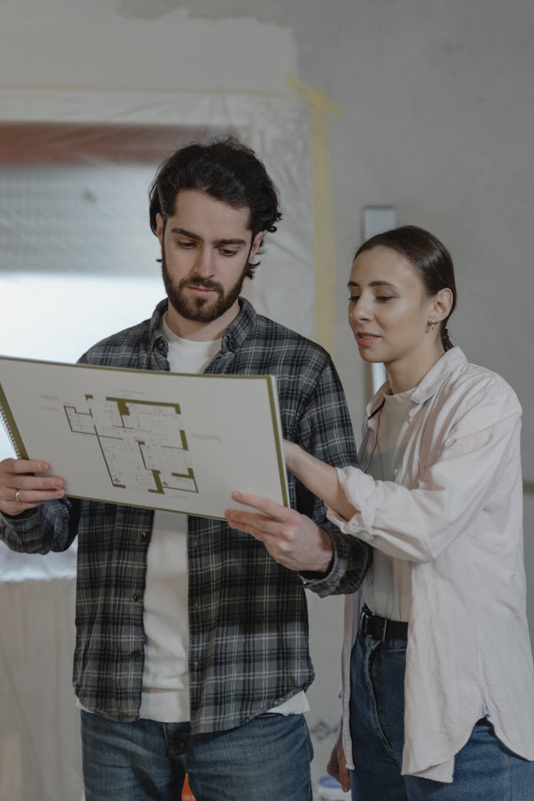
<svg viewBox="0 0 534 801"><path fill-rule="evenodd" d="M115 488L198 493L179 404L86 395L65 403L70 431L96 437Z"/></svg>

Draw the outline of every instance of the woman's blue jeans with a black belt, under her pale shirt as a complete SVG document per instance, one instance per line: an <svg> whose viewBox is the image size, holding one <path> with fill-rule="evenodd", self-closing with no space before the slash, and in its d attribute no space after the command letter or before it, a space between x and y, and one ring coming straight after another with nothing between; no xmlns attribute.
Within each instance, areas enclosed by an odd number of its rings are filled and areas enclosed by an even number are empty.
<svg viewBox="0 0 534 801"><path fill-rule="evenodd" d="M351 657L353 801L532 801L534 762L509 751L487 719L456 754L452 784L400 774L406 641L359 632Z"/></svg>

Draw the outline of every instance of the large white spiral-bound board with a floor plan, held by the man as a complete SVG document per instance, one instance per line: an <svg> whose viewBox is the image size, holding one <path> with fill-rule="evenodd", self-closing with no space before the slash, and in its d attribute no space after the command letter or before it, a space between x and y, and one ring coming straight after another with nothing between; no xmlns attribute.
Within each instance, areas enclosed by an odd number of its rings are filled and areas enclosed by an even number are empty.
<svg viewBox="0 0 534 801"><path fill-rule="evenodd" d="M0 408L16 452L71 497L221 518L235 489L288 505L274 376L0 356Z"/></svg>

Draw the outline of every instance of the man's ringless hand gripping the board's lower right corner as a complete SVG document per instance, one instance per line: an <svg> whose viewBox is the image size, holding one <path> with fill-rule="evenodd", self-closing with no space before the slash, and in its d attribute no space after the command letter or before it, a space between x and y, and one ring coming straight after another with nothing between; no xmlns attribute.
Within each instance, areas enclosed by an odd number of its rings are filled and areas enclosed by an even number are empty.
<svg viewBox="0 0 534 801"><path fill-rule="evenodd" d="M232 498L260 512L227 509L232 529L246 531L263 542L271 557L289 570L327 572L334 545L329 534L309 517L261 495L235 492Z"/></svg>

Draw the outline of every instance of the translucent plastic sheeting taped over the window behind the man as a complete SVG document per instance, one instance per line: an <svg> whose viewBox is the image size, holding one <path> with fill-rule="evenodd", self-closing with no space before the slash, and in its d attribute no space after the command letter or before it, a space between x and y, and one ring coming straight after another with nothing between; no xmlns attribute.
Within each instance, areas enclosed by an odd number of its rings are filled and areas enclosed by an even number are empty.
<svg viewBox="0 0 534 801"><path fill-rule="evenodd" d="M0 352L74 361L163 297L147 190L190 139L235 133L279 187L283 221L246 296L314 336L308 110L287 95L0 91ZM0 458L12 455L0 433ZM78 801L70 686L75 549L0 547L0 801Z"/></svg>

